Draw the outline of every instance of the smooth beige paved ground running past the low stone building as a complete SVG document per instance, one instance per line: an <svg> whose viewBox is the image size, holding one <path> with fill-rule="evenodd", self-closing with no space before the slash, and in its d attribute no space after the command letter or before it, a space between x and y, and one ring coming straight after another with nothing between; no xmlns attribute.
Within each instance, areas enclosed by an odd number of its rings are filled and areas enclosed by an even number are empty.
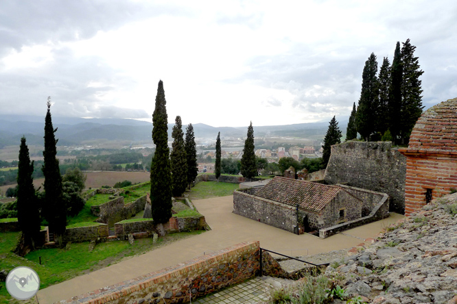
<svg viewBox="0 0 457 304"><path fill-rule="evenodd" d="M50 286L38 291L40 304L50 304L84 294L91 290L110 286L155 270L173 266L179 262L198 257L205 252L224 249L239 242L259 240L263 248L292 255L314 255L350 248L360 244L361 239L373 238L383 228L403 216L392 214L390 218L337 234L327 239L277 229L243 216L231 213L233 197L217 197L194 201L203 214L211 231L161 247L138 257L96 270L87 275Z"/></svg>

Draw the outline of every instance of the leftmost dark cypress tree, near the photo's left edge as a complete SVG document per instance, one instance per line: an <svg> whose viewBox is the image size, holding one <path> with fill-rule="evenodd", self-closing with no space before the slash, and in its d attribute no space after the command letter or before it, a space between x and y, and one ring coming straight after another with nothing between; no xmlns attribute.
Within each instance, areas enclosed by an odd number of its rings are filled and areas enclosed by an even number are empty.
<svg viewBox="0 0 457 304"><path fill-rule="evenodd" d="M40 232L40 214L38 201L35 195L34 162L30 163L29 148L25 143L25 137L21 138L19 149L19 164L17 173L17 220L24 235L26 245L35 247Z"/></svg>

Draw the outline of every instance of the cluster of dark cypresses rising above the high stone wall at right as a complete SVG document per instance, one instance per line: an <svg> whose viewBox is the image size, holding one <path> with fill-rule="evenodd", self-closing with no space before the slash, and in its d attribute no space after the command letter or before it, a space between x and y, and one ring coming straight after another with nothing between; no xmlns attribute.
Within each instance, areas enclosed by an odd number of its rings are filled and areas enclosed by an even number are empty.
<svg viewBox="0 0 457 304"><path fill-rule="evenodd" d="M397 144L406 144L412 128L421 116L422 92L419 77L423 71L416 47L410 40L395 47L392 65L384 58L377 74L377 58L371 53L362 73L362 91L357 110L355 103L347 126L346 140L359 133L364 140L384 136ZM376 135L377 134L377 135Z"/></svg>

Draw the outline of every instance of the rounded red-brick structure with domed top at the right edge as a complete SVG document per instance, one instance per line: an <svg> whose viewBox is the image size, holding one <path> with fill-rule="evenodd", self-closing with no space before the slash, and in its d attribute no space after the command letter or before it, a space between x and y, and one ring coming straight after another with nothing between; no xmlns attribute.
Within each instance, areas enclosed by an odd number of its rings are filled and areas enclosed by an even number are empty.
<svg viewBox="0 0 457 304"><path fill-rule="evenodd" d="M405 214L457 189L457 98L423 112L406 155Z"/></svg>

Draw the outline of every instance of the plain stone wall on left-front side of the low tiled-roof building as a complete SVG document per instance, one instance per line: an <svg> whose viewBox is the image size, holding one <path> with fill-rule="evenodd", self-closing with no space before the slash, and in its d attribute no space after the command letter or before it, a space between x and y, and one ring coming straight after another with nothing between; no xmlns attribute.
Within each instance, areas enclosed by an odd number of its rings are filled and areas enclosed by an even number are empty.
<svg viewBox="0 0 457 304"><path fill-rule="evenodd" d="M249 189L233 192L233 213L294 233L297 225L296 207L256 197L248 192Z"/></svg>

